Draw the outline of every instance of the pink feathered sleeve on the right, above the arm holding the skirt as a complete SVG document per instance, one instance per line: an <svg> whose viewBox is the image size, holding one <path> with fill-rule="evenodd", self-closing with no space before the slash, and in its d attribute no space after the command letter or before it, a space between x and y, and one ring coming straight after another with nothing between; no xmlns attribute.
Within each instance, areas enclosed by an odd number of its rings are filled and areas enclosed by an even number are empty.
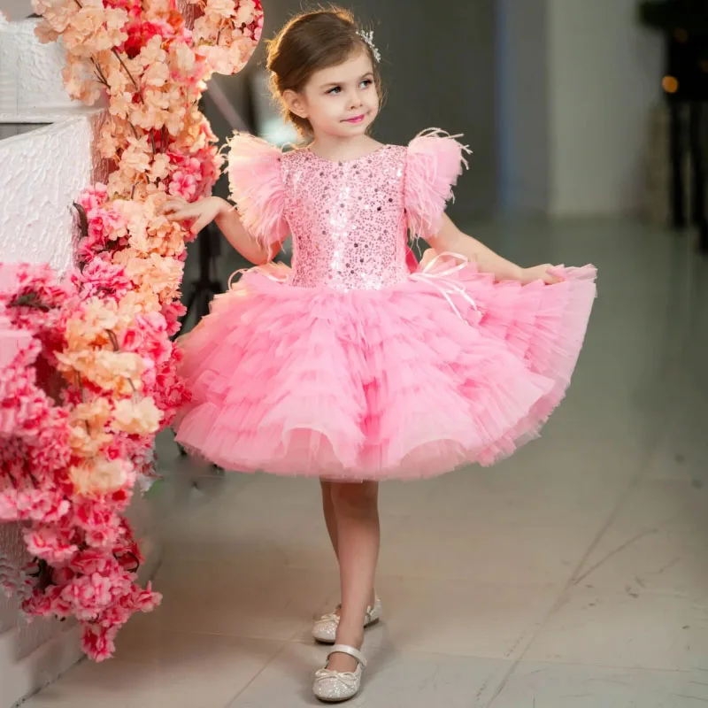
<svg viewBox="0 0 708 708"><path fill-rule="evenodd" d="M459 135L431 129L408 146L404 203L412 235L428 239L441 227L445 206L453 199L452 187L467 167L470 152Z"/></svg>

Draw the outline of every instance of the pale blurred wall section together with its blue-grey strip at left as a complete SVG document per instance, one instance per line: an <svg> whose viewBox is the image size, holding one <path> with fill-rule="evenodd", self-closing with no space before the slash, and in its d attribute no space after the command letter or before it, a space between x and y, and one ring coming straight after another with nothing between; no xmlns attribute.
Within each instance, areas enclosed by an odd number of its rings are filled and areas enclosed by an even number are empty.
<svg viewBox="0 0 708 708"><path fill-rule="evenodd" d="M635 0L530 4L499 0L500 86L517 96L501 106L503 203L556 216L637 212L660 37L638 24Z"/></svg>

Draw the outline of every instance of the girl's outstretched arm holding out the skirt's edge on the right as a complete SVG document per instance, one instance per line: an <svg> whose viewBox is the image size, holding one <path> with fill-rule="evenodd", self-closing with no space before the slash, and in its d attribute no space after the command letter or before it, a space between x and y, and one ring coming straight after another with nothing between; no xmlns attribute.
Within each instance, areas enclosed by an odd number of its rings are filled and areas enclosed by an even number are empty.
<svg viewBox="0 0 708 708"><path fill-rule="evenodd" d="M497 256L493 250L487 248L483 243L472 236L463 234L452 223L447 214L443 215L443 226L440 231L428 239L428 243L438 253L449 251L450 253L458 253L460 256L464 256L476 263L481 273L491 273L497 281L529 283L541 280L549 285L561 281L560 278L550 273L553 268L550 264L522 268L501 256Z"/></svg>

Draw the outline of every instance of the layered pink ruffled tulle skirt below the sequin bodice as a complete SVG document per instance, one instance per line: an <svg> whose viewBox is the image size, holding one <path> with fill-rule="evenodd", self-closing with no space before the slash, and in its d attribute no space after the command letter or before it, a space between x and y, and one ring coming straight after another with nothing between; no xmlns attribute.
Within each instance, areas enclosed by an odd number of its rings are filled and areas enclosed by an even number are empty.
<svg viewBox="0 0 708 708"><path fill-rule="evenodd" d="M176 439L226 469L342 481L491 465L570 383L596 271L558 274L521 286L469 265L337 292L247 273L180 340Z"/></svg>

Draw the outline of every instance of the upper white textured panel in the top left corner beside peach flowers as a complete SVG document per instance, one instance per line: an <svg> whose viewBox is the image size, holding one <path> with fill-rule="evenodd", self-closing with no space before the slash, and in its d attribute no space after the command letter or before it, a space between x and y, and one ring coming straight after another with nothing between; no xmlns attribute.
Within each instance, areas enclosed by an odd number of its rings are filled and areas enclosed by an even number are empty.
<svg viewBox="0 0 708 708"><path fill-rule="evenodd" d="M62 43L41 44L39 19L7 22L0 18L0 113L22 116L50 109L81 109L66 95L61 78Z"/></svg>

